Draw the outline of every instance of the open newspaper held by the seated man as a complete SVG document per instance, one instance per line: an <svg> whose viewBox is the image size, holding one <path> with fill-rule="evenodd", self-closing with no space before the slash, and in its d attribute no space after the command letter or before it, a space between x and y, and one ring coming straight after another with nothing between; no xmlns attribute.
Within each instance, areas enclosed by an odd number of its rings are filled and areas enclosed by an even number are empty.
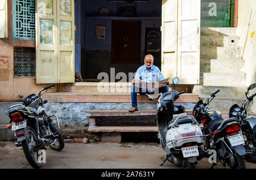
<svg viewBox="0 0 256 180"><path fill-rule="evenodd" d="M169 82L169 78L161 80L160 82L143 82L140 79L136 79L134 82L134 86L142 89L151 90L151 89L166 87L168 82Z"/></svg>

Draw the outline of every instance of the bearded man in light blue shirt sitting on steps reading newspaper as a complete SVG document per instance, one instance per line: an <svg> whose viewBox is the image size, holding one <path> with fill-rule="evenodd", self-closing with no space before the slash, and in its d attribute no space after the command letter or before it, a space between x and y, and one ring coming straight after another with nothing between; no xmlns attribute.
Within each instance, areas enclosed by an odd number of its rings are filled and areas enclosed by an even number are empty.
<svg viewBox="0 0 256 180"><path fill-rule="evenodd" d="M140 95L168 92L169 78L164 79L162 72L153 65L154 57L147 54L144 58L144 65L136 71L134 79L131 81L131 105L129 112L138 110L137 93Z"/></svg>

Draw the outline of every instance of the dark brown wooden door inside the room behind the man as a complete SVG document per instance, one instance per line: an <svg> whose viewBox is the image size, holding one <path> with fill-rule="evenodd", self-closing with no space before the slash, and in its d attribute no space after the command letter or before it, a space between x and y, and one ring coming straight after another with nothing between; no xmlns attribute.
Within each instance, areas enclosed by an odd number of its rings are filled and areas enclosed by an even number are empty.
<svg viewBox="0 0 256 180"><path fill-rule="evenodd" d="M112 22L112 63L140 63L141 21Z"/></svg>

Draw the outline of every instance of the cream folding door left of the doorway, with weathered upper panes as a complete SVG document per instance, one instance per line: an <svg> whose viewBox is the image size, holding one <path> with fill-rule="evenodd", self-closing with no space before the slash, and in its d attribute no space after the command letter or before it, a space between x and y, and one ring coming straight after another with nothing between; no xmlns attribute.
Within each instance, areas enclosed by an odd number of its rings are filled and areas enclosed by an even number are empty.
<svg viewBox="0 0 256 180"><path fill-rule="evenodd" d="M37 0L36 83L73 82L75 82L74 0Z"/></svg>

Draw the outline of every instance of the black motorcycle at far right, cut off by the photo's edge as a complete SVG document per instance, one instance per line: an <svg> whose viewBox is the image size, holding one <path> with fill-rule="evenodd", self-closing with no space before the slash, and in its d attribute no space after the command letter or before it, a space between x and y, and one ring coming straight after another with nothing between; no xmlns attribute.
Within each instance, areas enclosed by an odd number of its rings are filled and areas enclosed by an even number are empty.
<svg viewBox="0 0 256 180"><path fill-rule="evenodd" d="M233 118L236 117L242 127L243 137L245 139L245 149L246 149L246 156L245 160L247 161L256 161L256 117L249 116L247 117L247 108L251 101L253 101L254 95L248 97L248 92L256 87L256 83L251 84L249 88L247 88L247 92L245 96L247 100L243 102L242 106L238 106L234 104L229 109L229 117Z"/></svg>

